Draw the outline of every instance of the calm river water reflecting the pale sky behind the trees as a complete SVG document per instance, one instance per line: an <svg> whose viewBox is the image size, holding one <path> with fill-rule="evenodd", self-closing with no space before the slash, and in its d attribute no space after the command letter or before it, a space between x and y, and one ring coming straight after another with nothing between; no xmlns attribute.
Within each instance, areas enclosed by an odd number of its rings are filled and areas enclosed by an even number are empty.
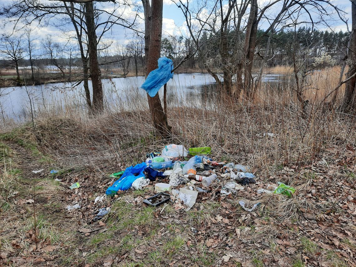
<svg viewBox="0 0 356 267"><path fill-rule="evenodd" d="M263 82L278 82L279 74L266 74ZM105 105L108 109L137 109L147 106L146 92L140 88L143 77L103 79ZM168 106L206 105L213 99L215 80L204 73L174 74L167 83ZM40 111L62 110L76 107L85 110L83 84L53 83L36 86L0 88L0 112L3 121L19 122ZM162 87L163 88L163 87ZM89 81L91 91L91 81ZM162 99L163 89L159 90Z"/></svg>

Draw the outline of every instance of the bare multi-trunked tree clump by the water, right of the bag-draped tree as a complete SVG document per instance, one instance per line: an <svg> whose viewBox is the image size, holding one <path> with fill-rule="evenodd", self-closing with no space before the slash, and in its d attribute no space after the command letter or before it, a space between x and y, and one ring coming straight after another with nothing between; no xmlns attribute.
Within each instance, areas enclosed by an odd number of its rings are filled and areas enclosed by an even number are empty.
<svg viewBox="0 0 356 267"><path fill-rule="evenodd" d="M298 12L303 13L303 21L308 20L310 23L314 23L315 18L324 17L325 20L329 17L329 8L340 12L329 0L219 0L210 6L208 3L211 2L201 1L194 7L178 0L176 4L185 16L193 40L197 40L197 33L191 30L194 24L204 25L204 30L213 35L209 41L218 47L219 57L214 55L208 58L205 66L208 72L218 84L222 84L218 72L223 72L225 91L239 95L243 88L248 99L253 98L255 90L252 67L256 54L256 34L261 21L269 23L262 35L264 37L271 31L273 35L273 31L278 31L280 25L287 27L290 17ZM258 6L259 3L261 6ZM312 13L317 15L312 16ZM244 22L246 17L248 19ZM234 74L236 82L235 89L232 90Z"/></svg>

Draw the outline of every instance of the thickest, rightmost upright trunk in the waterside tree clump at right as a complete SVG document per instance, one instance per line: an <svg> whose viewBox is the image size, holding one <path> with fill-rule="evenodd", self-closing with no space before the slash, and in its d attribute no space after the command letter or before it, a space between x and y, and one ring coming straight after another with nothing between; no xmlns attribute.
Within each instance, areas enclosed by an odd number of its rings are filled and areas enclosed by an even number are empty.
<svg viewBox="0 0 356 267"><path fill-rule="evenodd" d="M245 77L244 86L247 98L253 97L252 85L252 66L253 56L255 54L256 47L256 34L257 34L257 0L251 1L250 17L248 18L248 26L246 30L245 40ZM247 32L248 31L248 32Z"/></svg>

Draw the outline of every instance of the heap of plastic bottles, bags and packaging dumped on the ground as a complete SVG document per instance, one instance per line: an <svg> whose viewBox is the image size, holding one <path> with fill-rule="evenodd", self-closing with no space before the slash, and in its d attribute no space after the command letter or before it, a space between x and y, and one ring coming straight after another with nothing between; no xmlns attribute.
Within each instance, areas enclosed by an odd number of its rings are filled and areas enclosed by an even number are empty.
<svg viewBox="0 0 356 267"><path fill-rule="evenodd" d="M249 166L218 162L208 157L210 153L210 147L187 150L175 144L165 146L161 153L147 153L144 162L110 175L117 180L108 187L106 195L117 198L117 194L130 188L138 190L155 183L156 194L143 200L143 203L158 206L170 201L174 209L188 211L199 194L214 191L230 195L237 190L244 190L244 186L256 183L256 176ZM292 197L294 192L294 188L283 183L279 183L273 191L257 190L259 194L283 194L287 197ZM252 208L247 208L244 201L240 200L239 203L248 212L261 205L256 203Z"/></svg>

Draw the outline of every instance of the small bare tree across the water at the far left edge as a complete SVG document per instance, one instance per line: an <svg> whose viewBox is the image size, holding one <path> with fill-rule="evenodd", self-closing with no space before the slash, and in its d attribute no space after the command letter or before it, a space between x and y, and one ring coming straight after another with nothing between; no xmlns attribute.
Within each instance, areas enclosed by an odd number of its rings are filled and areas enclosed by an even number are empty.
<svg viewBox="0 0 356 267"><path fill-rule="evenodd" d="M17 81L20 80L19 61L23 58L24 49L22 47L22 36L1 36L0 53L7 61L7 66L16 69Z"/></svg>

